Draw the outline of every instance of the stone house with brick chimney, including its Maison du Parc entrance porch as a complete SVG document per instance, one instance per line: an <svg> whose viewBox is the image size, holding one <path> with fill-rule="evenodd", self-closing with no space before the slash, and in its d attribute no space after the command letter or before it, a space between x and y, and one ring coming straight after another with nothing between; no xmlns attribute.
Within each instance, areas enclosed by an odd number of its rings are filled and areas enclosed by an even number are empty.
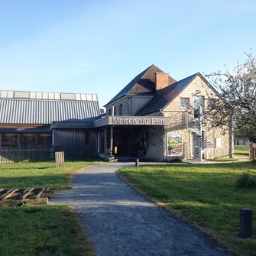
<svg viewBox="0 0 256 256"><path fill-rule="evenodd" d="M106 105L96 120L98 154L151 160L213 159L228 156L228 130L202 127L200 106L207 108L215 89L196 73L176 81L149 66Z"/></svg>

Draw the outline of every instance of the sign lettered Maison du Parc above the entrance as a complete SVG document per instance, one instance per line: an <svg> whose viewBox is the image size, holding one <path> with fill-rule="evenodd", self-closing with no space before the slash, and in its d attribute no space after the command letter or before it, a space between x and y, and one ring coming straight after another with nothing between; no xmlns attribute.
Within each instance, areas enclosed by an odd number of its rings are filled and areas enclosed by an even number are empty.
<svg viewBox="0 0 256 256"><path fill-rule="evenodd" d="M167 125L167 118L113 116L109 118L109 125Z"/></svg>

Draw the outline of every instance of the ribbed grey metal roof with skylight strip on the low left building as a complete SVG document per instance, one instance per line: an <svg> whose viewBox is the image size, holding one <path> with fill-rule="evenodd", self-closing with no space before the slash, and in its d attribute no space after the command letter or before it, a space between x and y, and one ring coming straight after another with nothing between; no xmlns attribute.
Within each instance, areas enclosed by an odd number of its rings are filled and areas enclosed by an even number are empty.
<svg viewBox="0 0 256 256"><path fill-rule="evenodd" d="M92 122L99 115L95 94L0 91L0 124Z"/></svg>

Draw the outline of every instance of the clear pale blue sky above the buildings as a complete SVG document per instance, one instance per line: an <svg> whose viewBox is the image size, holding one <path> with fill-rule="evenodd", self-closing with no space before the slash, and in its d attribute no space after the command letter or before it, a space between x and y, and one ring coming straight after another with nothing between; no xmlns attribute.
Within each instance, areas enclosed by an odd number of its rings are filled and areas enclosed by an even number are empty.
<svg viewBox="0 0 256 256"><path fill-rule="evenodd" d="M0 0L0 89L97 93L151 64L183 79L255 52L254 0Z"/></svg>

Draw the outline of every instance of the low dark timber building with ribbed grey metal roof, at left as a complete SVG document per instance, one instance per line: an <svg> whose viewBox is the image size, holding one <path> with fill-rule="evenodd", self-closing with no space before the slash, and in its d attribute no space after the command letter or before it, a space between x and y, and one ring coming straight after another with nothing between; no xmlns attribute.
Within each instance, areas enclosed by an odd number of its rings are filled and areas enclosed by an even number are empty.
<svg viewBox="0 0 256 256"><path fill-rule="evenodd" d="M96 154L93 121L99 118L96 94L0 91L0 147L52 148L68 157Z"/></svg>

